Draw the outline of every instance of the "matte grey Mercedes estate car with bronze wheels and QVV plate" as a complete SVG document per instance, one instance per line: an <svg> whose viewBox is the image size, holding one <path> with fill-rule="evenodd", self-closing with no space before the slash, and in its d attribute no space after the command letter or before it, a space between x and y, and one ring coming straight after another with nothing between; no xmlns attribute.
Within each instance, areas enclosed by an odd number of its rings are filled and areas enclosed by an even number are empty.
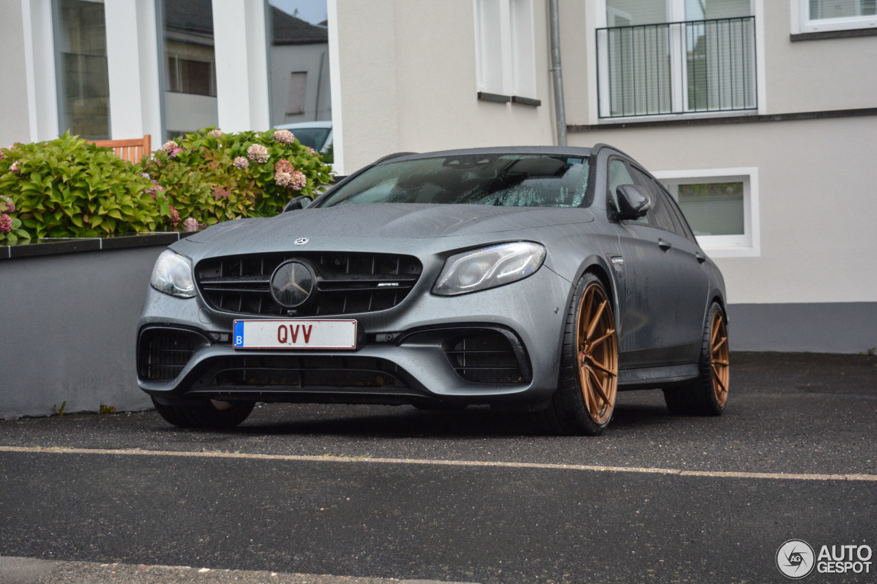
<svg viewBox="0 0 877 584"><path fill-rule="evenodd" d="M618 390L721 413L728 356L722 274L660 182L597 145L395 154L181 239L137 370L180 426L255 402L489 404L599 434Z"/></svg>

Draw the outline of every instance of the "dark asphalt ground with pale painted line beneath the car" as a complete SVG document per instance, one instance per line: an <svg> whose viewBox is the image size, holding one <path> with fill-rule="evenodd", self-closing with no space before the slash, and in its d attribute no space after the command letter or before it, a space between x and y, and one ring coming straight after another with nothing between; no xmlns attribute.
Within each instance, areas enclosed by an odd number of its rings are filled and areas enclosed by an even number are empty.
<svg viewBox="0 0 877 584"><path fill-rule="evenodd" d="M0 556L67 561L39 564L46 583L779 582L791 538L873 551L877 357L732 360L724 416L622 393L598 438L485 408L272 404L224 432L3 421ZM873 556L805 581L877 582Z"/></svg>

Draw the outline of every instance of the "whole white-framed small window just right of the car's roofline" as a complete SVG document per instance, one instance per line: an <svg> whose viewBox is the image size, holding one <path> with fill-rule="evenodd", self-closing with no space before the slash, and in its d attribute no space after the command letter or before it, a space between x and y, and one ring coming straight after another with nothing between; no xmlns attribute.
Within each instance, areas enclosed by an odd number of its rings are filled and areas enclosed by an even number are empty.
<svg viewBox="0 0 877 584"><path fill-rule="evenodd" d="M758 168L653 173L714 257L759 255Z"/></svg>

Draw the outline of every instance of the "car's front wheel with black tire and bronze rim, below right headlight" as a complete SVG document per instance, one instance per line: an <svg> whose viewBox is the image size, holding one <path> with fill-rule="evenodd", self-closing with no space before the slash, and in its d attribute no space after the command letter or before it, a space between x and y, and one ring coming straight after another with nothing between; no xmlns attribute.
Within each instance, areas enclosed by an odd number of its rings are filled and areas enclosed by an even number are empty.
<svg viewBox="0 0 877 584"><path fill-rule="evenodd" d="M609 426L618 388L618 343L610 296L595 274L584 274L567 310L560 379L537 414L544 431L597 436Z"/></svg>

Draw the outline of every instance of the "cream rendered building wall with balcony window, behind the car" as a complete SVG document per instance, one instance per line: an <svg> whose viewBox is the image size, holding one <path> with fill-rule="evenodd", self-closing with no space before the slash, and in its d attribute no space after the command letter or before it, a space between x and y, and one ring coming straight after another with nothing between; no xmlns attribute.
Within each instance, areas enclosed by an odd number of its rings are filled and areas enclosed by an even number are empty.
<svg viewBox="0 0 877 584"><path fill-rule="evenodd" d="M558 4L568 144L617 146L678 197L732 348L877 345L873 1ZM549 10L337 0L336 156L557 144Z"/></svg>

